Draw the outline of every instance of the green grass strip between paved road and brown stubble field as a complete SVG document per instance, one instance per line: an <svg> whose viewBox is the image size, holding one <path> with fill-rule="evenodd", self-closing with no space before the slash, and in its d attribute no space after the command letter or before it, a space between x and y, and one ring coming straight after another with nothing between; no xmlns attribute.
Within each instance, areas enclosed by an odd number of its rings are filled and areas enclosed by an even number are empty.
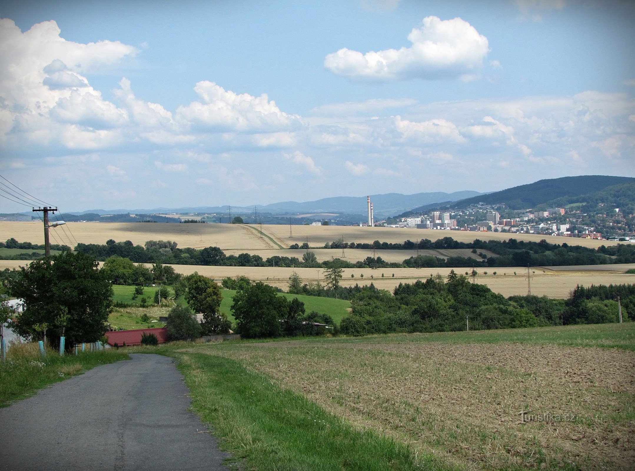
<svg viewBox="0 0 635 471"><path fill-rule="evenodd" d="M221 447L265 470L448 469L431 455L372 430L358 430L305 397L229 358L176 352L192 407Z"/></svg>

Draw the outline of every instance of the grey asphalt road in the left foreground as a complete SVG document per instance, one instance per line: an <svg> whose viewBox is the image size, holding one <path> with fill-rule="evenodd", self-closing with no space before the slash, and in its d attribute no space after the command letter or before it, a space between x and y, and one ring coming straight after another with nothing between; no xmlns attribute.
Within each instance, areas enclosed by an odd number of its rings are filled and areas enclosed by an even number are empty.
<svg viewBox="0 0 635 471"><path fill-rule="evenodd" d="M225 470L173 360L131 357L0 409L0 469Z"/></svg>

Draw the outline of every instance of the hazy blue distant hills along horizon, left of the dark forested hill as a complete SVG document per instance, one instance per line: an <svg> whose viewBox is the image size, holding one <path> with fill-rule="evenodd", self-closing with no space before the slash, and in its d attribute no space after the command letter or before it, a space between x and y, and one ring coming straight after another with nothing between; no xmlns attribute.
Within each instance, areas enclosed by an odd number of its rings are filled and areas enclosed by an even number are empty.
<svg viewBox="0 0 635 471"><path fill-rule="evenodd" d="M399 211L406 211L411 208L442 201L457 201L472 196L482 195L478 191L456 191L455 193L445 193L442 191L435 193L415 193L415 195L401 195L401 193L386 193L385 195L371 195L375 219L385 215L394 214ZM232 214L250 214L253 208L257 207L258 212L269 214L305 214L333 212L337 214L366 214L366 196L335 196L333 198L323 198L316 201L306 201L298 203L296 201L284 201L272 203L270 205L251 205L248 207L232 206ZM229 206L197 206L180 208L152 208L152 209L91 209L72 214L154 214L154 213L227 213Z"/></svg>

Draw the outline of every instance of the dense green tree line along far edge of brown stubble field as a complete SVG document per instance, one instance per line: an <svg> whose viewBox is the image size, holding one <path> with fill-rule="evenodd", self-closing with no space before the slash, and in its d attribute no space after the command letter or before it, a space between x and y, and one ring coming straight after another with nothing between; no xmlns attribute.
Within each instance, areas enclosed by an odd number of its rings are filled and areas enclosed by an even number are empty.
<svg viewBox="0 0 635 471"><path fill-rule="evenodd" d="M616 293L623 294L622 316L635 312L635 285L577 287L569 299L538 296L505 298L453 271L425 281L400 283L394 292L363 287L351 299L352 313L342 319L347 335L392 332L445 332L547 325L617 322Z"/></svg>

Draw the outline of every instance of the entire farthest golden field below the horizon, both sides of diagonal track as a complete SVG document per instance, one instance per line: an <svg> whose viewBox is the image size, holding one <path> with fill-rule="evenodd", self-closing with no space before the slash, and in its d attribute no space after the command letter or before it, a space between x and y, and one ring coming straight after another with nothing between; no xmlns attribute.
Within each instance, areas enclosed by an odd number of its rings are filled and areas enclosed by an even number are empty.
<svg viewBox="0 0 635 471"><path fill-rule="evenodd" d="M518 240L538 242L546 239L551 243L569 243L583 247L597 248L617 242L590 240L533 234L510 235L493 232L434 231L432 229L407 228L361 228L359 226L293 226L293 237L289 236L289 226L263 225L267 237L261 237L260 226L248 224L174 224L159 222L69 222L66 227L51 229L51 243L67 240L65 231L72 232L77 242L105 243L109 239L117 242L131 240L135 245L143 245L147 240L171 240L178 247L210 247L215 245L223 250L288 249L294 243L309 242L311 247L323 247L326 242L344 238L345 242L372 243L437 240L451 237L460 242L481 240ZM0 240L15 238L20 242L43 243L41 222L0 221ZM272 242L273 241L273 242ZM66 242L68 243L68 242ZM341 254L341 251L340 251Z"/></svg>

